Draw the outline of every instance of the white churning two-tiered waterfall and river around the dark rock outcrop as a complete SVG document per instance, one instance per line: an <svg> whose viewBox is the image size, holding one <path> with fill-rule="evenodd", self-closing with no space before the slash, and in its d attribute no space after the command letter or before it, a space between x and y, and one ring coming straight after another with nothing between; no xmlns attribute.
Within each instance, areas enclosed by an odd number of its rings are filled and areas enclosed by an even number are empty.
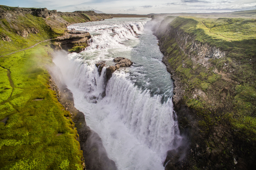
<svg viewBox="0 0 256 170"><path fill-rule="evenodd" d="M93 35L91 45L79 54L54 58L75 107L100 135L119 170L164 169L166 152L181 139L171 100L173 82L148 21L115 18L71 25L69 29ZM99 75L95 63L113 65L115 57L134 64L115 71L106 83L106 67Z"/></svg>

